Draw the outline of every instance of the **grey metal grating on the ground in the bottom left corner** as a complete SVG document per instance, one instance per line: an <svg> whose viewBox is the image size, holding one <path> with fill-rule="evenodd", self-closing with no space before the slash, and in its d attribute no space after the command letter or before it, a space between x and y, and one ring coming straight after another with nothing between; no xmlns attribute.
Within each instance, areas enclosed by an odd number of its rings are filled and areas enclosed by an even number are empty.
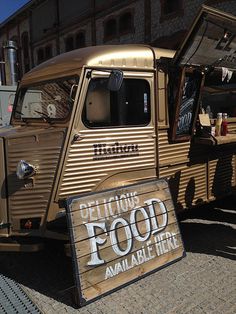
<svg viewBox="0 0 236 314"><path fill-rule="evenodd" d="M0 313L40 314L41 311L17 282L0 274Z"/></svg>

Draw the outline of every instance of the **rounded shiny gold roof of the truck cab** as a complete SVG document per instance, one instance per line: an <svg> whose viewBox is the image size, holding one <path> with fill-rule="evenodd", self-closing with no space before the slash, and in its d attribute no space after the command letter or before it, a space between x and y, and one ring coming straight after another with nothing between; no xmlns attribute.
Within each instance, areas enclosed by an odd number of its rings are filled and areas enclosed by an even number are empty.
<svg viewBox="0 0 236 314"><path fill-rule="evenodd" d="M152 70L155 59L172 58L173 55L173 50L148 45L91 46L63 53L43 62L26 73L21 84L29 85L56 77L75 76L84 66Z"/></svg>

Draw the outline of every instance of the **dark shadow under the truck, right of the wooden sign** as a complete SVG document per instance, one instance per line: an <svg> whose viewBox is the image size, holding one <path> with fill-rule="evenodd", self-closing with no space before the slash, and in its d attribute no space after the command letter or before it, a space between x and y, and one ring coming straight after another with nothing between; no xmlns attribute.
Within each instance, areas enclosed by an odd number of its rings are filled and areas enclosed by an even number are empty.
<svg viewBox="0 0 236 314"><path fill-rule="evenodd" d="M181 215L180 229L186 252L236 260L236 197L189 210Z"/></svg>

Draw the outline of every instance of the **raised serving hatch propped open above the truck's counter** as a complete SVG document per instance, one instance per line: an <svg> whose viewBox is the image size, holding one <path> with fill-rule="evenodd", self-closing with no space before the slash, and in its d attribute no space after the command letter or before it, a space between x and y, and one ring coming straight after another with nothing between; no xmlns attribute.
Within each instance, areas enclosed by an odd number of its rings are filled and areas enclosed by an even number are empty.
<svg viewBox="0 0 236 314"><path fill-rule="evenodd" d="M203 6L174 63L236 70L236 16Z"/></svg>

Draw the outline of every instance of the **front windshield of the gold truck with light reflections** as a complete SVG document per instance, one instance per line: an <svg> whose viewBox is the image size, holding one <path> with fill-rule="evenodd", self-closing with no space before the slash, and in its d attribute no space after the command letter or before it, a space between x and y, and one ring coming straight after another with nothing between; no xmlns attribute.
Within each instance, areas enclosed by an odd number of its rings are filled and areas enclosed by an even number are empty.
<svg viewBox="0 0 236 314"><path fill-rule="evenodd" d="M73 100L71 90L78 78L64 78L24 86L19 90L14 117L16 119L64 120L69 115Z"/></svg>

